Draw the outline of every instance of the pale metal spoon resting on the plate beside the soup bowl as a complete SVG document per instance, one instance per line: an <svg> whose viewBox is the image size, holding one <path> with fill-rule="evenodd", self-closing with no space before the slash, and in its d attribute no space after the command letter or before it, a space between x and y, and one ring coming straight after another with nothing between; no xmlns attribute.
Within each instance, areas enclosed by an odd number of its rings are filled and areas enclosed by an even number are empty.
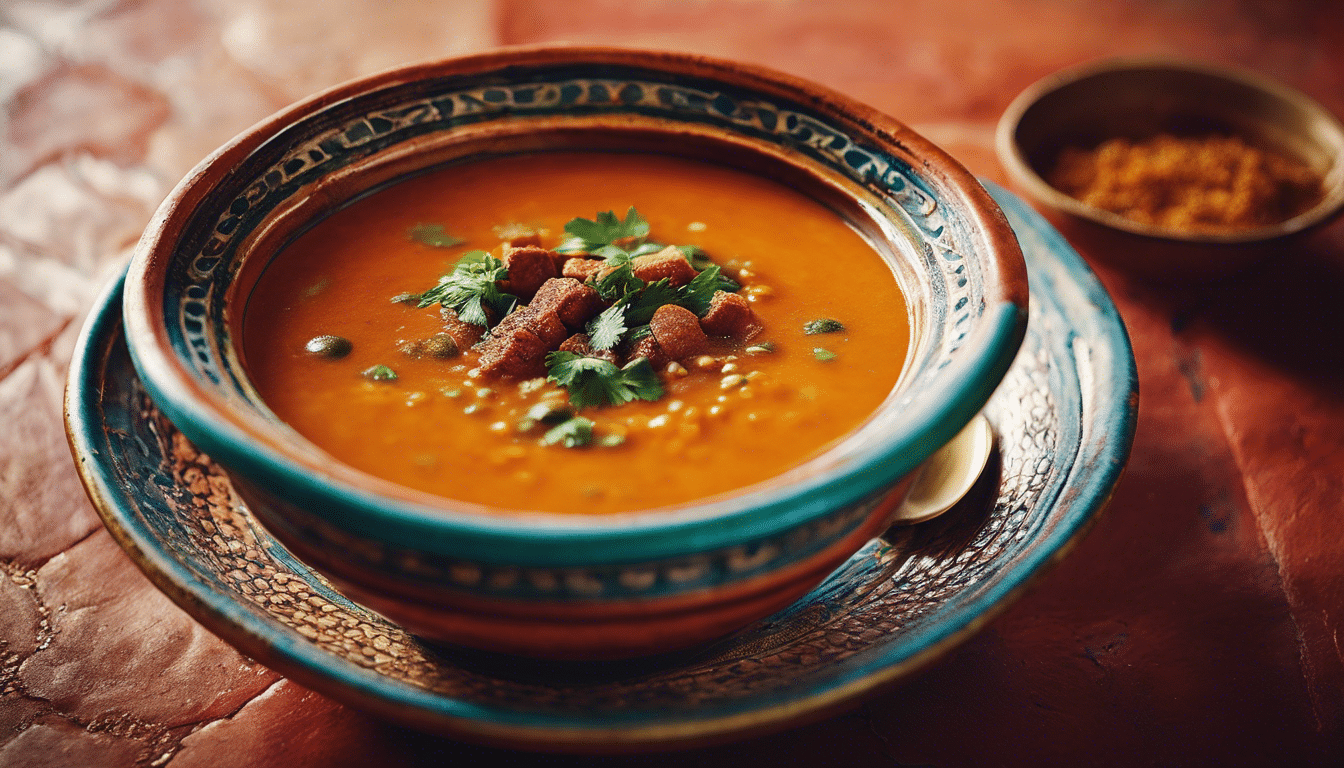
<svg viewBox="0 0 1344 768"><path fill-rule="evenodd" d="M919 467L892 523L922 523L950 510L976 484L993 448L989 420L977 413Z"/></svg>

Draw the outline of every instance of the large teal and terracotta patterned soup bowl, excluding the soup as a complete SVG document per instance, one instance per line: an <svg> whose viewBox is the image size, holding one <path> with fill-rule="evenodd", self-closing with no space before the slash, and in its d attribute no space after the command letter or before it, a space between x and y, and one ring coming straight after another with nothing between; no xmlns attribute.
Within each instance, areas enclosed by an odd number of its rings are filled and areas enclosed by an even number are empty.
<svg viewBox="0 0 1344 768"><path fill-rule="evenodd" d="M818 199L878 245L914 334L906 373L871 420L780 479L702 503L480 515L340 464L258 398L231 332L273 254L258 243L427 167L575 148L730 163ZM530 47L355 81L239 136L159 210L124 315L155 402L343 592L437 640L612 658L767 616L880 533L911 471L1001 379L1025 304L1003 213L895 120L738 63Z"/></svg>

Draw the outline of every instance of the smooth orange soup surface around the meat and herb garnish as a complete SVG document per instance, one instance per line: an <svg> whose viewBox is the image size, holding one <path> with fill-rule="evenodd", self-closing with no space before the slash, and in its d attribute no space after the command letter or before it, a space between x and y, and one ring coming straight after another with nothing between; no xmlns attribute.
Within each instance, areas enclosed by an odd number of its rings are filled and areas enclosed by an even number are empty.
<svg viewBox="0 0 1344 768"><path fill-rule="evenodd" d="M452 313L429 289L465 254L501 257L520 238L554 253L571 219L628 222L632 207L648 234L622 247L695 246L688 261L718 265L750 323L656 369L632 358L620 370L642 383L621 405L544 371L485 373L480 347L435 346ZM246 366L277 416L358 469L492 511L630 511L767 480L863 424L907 344L890 266L839 215L758 176L650 155L527 155L401 182L286 246L243 319Z"/></svg>

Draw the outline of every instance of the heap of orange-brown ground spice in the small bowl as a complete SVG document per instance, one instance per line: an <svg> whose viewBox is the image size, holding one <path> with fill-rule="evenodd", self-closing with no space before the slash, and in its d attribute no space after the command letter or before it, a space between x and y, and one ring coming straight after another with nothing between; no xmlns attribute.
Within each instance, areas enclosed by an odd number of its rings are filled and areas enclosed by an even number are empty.
<svg viewBox="0 0 1344 768"><path fill-rule="evenodd" d="M1188 231L1274 225L1321 196L1321 179L1305 164L1236 136L1159 135L1068 147L1048 180L1090 206Z"/></svg>

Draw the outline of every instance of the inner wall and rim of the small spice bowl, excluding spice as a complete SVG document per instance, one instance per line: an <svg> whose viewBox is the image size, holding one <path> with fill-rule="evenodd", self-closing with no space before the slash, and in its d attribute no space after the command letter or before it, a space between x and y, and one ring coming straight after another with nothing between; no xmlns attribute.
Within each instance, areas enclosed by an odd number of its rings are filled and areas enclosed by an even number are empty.
<svg viewBox="0 0 1344 768"><path fill-rule="evenodd" d="M1051 187L1066 147L1167 133L1234 135L1306 164L1324 196L1285 222L1228 233L1188 233L1134 222ZM999 149L1015 179L1047 204L1137 234L1203 242L1253 242L1321 223L1344 206L1344 126L1306 95L1251 73L1192 62L1118 61L1058 73L1005 112Z"/></svg>

